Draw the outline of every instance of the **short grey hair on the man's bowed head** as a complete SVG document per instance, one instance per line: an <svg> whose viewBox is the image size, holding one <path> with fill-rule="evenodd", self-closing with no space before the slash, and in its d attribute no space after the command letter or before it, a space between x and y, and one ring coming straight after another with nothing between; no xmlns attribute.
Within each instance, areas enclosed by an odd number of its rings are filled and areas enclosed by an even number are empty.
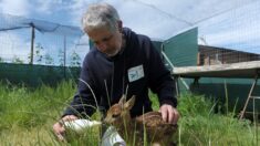
<svg viewBox="0 0 260 146"><path fill-rule="evenodd" d="M82 18L82 27L84 31L107 27L111 31L115 31L119 15L114 7L107 3L91 4Z"/></svg>

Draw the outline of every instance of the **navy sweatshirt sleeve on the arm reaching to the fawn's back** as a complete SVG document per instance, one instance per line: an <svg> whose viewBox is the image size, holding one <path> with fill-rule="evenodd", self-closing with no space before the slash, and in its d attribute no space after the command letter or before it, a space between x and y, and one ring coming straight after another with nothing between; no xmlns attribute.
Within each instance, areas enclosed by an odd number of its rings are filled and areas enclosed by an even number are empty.
<svg viewBox="0 0 260 146"><path fill-rule="evenodd" d="M148 61L148 84L150 90L158 95L160 105L170 104L177 106L176 87L174 79L168 69L166 69L159 52L155 49L148 39L146 45Z"/></svg>

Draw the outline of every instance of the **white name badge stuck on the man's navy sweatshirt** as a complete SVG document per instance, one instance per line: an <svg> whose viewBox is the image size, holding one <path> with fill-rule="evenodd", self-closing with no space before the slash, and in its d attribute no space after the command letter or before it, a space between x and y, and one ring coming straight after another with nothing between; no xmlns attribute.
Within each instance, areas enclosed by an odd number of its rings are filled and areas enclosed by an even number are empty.
<svg viewBox="0 0 260 146"><path fill-rule="evenodd" d="M144 76L145 76L145 74L144 74L143 65L134 66L128 70L129 82L134 82L134 81L139 80Z"/></svg>

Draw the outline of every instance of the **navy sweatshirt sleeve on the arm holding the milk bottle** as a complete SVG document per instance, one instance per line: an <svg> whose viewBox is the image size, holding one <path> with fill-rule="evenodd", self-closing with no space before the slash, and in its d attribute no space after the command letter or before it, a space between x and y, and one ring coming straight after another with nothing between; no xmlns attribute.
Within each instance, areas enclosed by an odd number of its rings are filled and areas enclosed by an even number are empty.
<svg viewBox="0 0 260 146"><path fill-rule="evenodd" d="M89 70L87 60L83 62L80 81L77 84L77 92L74 95L70 106L66 107L63 116L76 115L79 117L90 117L97 108L96 96L93 95L94 82L91 80L91 72ZM93 87L93 88L90 88ZM95 94L96 95L96 94Z"/></svg>

